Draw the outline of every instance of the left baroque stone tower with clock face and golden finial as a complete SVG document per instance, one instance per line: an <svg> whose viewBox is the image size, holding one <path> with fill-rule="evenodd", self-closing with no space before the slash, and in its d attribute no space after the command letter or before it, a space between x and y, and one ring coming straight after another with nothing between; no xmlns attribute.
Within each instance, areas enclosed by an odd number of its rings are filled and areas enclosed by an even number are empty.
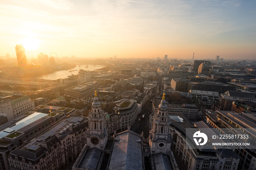
<svg viewBox="0 0 256 170"><path fill-rule="evenodd" d="M89 112L88 121L89 127L86 132L86 145L88 148L97 148L104 150L108 140L108 130L105 125L106 113L102 110L97 92L93 104L91 105L91 112Z"/></svg>

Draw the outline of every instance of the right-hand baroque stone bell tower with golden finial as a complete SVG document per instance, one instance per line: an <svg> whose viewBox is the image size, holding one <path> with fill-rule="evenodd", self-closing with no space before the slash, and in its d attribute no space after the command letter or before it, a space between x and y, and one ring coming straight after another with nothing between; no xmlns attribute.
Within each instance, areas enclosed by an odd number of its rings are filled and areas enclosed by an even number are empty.
<svg viewBox="0 0 256 170"><path fill-rule="evenodd" d="M165 93L158 106L158 111L153 116L153 126L149 132L149 146L151 154L163 153L169 155L171 151L171 136L169 133L170 117L167 115Z"/></svg>

